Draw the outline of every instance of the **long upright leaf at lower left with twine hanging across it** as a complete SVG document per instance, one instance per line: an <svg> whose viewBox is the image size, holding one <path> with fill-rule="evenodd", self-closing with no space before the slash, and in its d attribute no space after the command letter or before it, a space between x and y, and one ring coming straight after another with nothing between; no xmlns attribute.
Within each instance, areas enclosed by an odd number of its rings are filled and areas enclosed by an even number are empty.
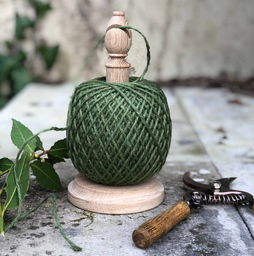
<svg viewBox="0 0 254 256"><path fill-rule="evenodd" d="M29 170L29 163L30 163L30 153L24 151L21 158L17 161L17 168L16 174L17 179L20 182L20 190L21 190L21 198L24 199L28 185L29 185L29 177L30 177L30 170ZM6 178L7 187L5 191L7 193L7 198L5 201L4 208L6 210L15 208L18 206L18 193L17 193L17 186L14 179L14 165L11 166L10 172Z"/></svg>

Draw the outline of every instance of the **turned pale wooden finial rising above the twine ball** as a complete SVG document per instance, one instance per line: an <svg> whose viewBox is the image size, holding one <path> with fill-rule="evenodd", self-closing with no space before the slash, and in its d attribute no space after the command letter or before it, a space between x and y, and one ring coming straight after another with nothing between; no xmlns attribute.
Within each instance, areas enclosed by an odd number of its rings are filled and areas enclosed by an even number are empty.
<svg viewBox="0 0 254 256"><path fill-rule="evenodd" d="M131 46L131 30L116 29L118 26L129 26L123 11L114 11L105 35L105 47L110 61L105 64L106 82L128 83L130 63L125 60Z"/></svg>

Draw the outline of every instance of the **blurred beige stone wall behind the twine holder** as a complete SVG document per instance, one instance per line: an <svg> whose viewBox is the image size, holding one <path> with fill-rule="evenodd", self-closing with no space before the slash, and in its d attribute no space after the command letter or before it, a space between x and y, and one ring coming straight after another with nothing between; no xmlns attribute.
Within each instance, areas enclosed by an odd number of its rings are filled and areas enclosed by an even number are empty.
<svg viewBox="0 0 254 256"><path fill-rule="evenodd" d="M43 0L44 1L44 0ZM48 2L48 0L45 0ZM25 43L33 56L35 40L60 44L60 55L51 71L44 72L50 83L77 82L101 76L107 54L104 47L91 53L104 35L114 10L124 10L129 24L147 37L151 64L150 80L193 76L216 77L222 71L230 77L254 76L254 1L245 0L51 0L53 10L36 27L35 37ZM0 1L0 52L5 40L14 34L15 12L34 17L27 0ZM132 75L140 75L145 66L143 39L133 33L128 61ZM38 59L31 64L43 69Z"/></svg>

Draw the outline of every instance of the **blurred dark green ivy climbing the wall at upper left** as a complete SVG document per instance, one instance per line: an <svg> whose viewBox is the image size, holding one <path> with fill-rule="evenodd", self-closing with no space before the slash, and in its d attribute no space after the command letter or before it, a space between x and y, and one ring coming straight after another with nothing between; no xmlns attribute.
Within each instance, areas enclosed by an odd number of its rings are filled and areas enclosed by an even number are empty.
<svg viewBox="0 0 254 256"><path fill-rule="evenodd" d="M27 16L20 16L16 13L16 26L15 34L11 41L6 41L5 45L8 53L5 55L0 54L0 108L17 94L23 87L36 81L33 71L27 65L28 56L22 50L22 44L26 40L25 30L27 28L34 28L39 19L43 18L47 11L51 10L50 3L43 3L37 0L28 0L32 8L35 9L36 18L31 20ZM47 69L50 69L55 63L59 45L50 47L45 43L36 44L36 54L41 56L42 61L45 63ZM5 91L3 92L5 88ZM8 90L6 90L8 88Z"/></svg>

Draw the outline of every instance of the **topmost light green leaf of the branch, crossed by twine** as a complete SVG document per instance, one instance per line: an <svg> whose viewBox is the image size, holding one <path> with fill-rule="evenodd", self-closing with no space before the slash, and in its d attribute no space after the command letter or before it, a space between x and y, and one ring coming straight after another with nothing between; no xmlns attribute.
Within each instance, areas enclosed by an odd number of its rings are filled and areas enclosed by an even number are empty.
<svg viewBox="0 0 254 256"><path fill-rule="evenodd" d="M15 146L19 149L23 146L24 142L32 137L33 133L19 121L12 118L12 129L10 133L11 140ZM34 152L36 147L36 138L31 139L28 144L24 147L24 150Z"/></svg>

